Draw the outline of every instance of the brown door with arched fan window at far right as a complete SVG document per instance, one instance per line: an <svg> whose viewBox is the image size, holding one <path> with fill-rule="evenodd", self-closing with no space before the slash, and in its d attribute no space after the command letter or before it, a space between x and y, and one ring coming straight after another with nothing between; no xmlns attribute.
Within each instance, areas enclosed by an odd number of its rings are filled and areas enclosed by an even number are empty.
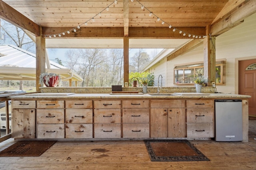
<svg viewBox="0 0 256 170"><path fill-rule="evenodd" d="M249 115L256 117L256 59L239 61L238 94L250 95Z"/></svg>

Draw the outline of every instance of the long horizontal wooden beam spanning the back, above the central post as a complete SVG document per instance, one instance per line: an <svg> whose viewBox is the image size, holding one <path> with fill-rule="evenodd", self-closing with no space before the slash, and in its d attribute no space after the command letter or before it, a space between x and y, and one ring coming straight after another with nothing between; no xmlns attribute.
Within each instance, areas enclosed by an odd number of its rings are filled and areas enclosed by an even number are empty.
<svg viewBox="0 0 256 170"><path fill-rule="evenodd" d="M72 27L43 27L42 34L47 35L45 38L49 38L49 35L56 35L55 38L122 38L124 37L123 27L81 27L76 29L77 31L70 31L70 34L66 33L62 35L62 32L73 29ZM129 27L129 38L157 38L157 39L191 39L188 37L188 33L192 35L205 35L205 27L179 27L177 29L186 32L187 35L183 36L183 33L175 32L166 27ZM61 37L58 37L58 34Z"/></svg>

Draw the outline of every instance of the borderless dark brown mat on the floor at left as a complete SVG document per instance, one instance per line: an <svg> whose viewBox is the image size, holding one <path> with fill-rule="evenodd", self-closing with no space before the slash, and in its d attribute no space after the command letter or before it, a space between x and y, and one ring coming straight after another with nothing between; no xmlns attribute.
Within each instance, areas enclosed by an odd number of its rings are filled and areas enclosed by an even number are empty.
<svg viewBox="0 0 256 170"><path fill-rule="evenodd" d="M56 141L18 141L2 150L0 156L40 156Z"/></svg>

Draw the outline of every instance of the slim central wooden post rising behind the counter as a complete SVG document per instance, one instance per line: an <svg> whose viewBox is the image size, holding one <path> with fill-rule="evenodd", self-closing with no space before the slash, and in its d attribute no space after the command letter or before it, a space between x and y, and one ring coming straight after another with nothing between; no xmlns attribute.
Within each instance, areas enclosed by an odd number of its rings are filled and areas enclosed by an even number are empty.
<svg viewBox="0 0 256 170"><path fill-rule="evenodd" d="M124 37L124 82L129 84L129 37Z"/></svg>

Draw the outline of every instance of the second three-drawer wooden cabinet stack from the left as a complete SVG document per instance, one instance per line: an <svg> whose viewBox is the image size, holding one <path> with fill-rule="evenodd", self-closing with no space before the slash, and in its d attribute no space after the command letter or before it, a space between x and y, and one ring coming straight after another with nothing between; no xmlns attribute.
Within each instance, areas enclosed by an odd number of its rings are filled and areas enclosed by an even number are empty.
<svg viewBox="0 0 256 170"><path fill-rule="evenodd" d="M92 138L92 100L66 100L66 138Z"/></svg>

